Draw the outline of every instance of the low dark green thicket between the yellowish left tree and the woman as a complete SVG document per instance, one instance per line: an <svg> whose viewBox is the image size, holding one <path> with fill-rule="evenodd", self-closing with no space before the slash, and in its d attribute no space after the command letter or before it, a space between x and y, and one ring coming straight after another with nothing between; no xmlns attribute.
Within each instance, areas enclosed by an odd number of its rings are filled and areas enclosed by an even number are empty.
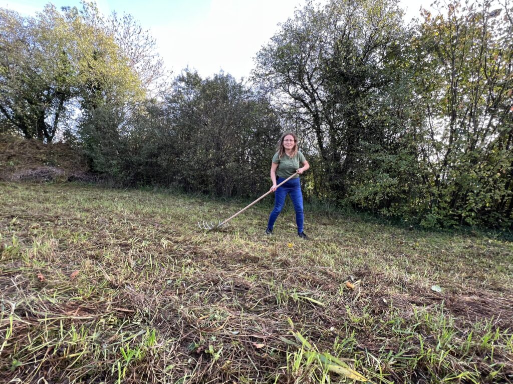
<svg viewBox="0 0 513 384"><path fill-rule="evenodd" d="M93 169L117 183L229 197L267 190L279 127L268 101L242 82L185 71L165 101L132 113L96 108L80 135Z"/></svg>

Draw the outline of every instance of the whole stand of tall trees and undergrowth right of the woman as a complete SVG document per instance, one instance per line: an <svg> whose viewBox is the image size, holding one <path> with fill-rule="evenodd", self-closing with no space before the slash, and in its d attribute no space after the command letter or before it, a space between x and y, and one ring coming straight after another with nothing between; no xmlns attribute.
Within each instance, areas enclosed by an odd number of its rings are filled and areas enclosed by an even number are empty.
<svg viewBox="0 0 513 384"><path fill-rule="evenodd" d="M401 14L308 3L258 54L312 146L308 191L425 227L511 225L511 9L455 1L415 29Z"/></svg>

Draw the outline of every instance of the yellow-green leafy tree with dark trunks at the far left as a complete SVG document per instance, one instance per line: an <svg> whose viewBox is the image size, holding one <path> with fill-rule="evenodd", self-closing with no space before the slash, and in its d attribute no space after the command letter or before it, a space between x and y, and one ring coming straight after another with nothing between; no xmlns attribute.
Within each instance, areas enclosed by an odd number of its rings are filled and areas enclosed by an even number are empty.
<svg viewBox="0 0 513 384"><path fill-rule="evenodd" d="M33 17L0 9L0 116L13 132L51 142L78 108L123 103L144 92L97 10L53 5Z"/></svg>

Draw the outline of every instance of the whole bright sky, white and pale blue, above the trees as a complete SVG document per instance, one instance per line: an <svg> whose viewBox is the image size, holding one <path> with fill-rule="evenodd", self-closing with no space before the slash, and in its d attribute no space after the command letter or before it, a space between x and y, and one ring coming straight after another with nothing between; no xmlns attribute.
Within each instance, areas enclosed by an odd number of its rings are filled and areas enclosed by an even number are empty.
<svg viewBox="0 0 513 384"><path fill-rule="evenodd" d="M401 0L409 21L432 0ZM45 4L80 6L80 0L0 0L0 7L35 15ZM223 70L247 78L253 58L305 0L96 0L104 15L130 13L156 39L166 68L186 67L202 77Z"/></svg>

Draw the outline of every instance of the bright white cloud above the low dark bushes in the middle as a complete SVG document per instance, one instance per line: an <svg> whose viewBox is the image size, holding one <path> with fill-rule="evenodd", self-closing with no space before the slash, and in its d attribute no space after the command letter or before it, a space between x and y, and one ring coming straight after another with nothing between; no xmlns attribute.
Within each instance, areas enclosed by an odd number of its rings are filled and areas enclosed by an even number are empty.
<svg viewBox="0 0 513 384"><path fill-rule="evenodd" d="M154 27L152 34L175 73L189 66L202 76L223 69L235 78L247 77L252 58L300 4L304 1L212 0L205 16L186 25Z"/></svg>

